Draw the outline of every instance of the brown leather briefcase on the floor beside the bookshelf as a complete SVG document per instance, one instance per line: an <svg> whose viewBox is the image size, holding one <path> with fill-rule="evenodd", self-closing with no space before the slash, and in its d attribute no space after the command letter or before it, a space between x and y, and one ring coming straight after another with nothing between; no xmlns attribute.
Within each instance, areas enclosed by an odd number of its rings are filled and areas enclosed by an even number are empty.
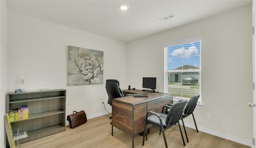
<svg viewBox="0 0 256 148"><path fill-rule="evenodd" d="M75 112L75 113L74 113ZM84 110L80 112L73 111L73 114L67 116L70 128L76 128L87 122Z"/></svg>

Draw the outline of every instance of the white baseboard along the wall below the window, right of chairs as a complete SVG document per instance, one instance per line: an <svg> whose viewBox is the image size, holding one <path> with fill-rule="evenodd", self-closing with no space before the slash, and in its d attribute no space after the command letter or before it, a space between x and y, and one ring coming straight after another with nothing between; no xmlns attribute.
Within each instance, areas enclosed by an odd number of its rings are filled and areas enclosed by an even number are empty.
<svg viewBox="0 0 256 148"><path fill-rule="evenodd" d="M180 122L181 125L182 125L182 122ZM188 124L188 123L185 123L186 127L188 128L193 128L196 130L196 127L194 124ZM207 134L211 134L211 135L214 135L214 136L218 136L220 138L224 138L224 139L227 139L227 140L230 140L230 141L234 141L234 142L237 142L237 143L240 143L240 144L244 144L246 146L250 146L252 147L252 142L251 141L246 141L246 140L243 140L243 139L240 139L240 138L237 138L237 137L234 137L234 136L230 136L230 135L226 135L226 134L222 134L222 133L219 133L219 132L215 132L213 130L208 130L206 128L201 128L201 127L198 127L198 131L201 131L201 132L205 132Z"/></svg>

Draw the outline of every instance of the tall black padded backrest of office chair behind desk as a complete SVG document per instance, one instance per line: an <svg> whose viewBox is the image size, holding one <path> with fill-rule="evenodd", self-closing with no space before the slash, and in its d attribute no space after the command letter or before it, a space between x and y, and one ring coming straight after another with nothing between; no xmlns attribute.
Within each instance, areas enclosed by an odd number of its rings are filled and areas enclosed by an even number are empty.
<svg viewBox="0 0 256 148"><path fill-rule="evenodd" d="M123 97L123 91L119 87L119 81L114 79L106 80L106 91L108 94L108 104L112 106L112 99Z"/></svg>

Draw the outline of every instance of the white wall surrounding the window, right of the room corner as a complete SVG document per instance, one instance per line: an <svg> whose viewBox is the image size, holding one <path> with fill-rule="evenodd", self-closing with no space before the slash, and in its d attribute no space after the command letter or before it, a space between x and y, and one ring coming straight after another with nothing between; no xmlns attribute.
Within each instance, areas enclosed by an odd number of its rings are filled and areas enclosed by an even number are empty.
<svg viewBox="0 0 256 148"><path fill-rule="evenodd" d="M163 92L163 44L198 36L202 36L204 106L195 110L197 125L202 131L250 145L252 6L130 42L128 82L141 89L142 77L157 77L157 89ZM210 120L205 118L206 112L211 114ZM192 117L186 118L185 124L194 127Z"/></svg>

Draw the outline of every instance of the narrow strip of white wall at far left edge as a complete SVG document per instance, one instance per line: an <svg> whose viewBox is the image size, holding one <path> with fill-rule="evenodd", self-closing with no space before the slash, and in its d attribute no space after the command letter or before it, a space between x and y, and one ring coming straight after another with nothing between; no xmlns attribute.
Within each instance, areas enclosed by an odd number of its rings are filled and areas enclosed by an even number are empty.
<svg viewBox="0 0 256 148"><path fill-rule="evenodd" d="M4 128L5 94L7 91L7 8L4 0L0 1L0 148L5 147Z"/></svg>

